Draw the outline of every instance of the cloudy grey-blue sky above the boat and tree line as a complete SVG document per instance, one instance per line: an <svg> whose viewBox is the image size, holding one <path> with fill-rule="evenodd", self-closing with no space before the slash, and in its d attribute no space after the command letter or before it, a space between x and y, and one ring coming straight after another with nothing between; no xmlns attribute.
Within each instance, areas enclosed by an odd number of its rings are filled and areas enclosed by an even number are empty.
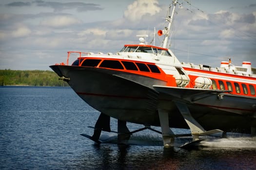
<svg viewBox="0 0 256 170"><path fill-rule="evenodd" d="M256 67L255 0L178 0L170 49L180 62ZM112 52L166 26L171 0L0 0L0 69L50 70L67 51ZM156 36L158 46L163 36ZM152 44L152 43L151 43ZM152 44L153 45L153 44ZM72 58L73 57L73 58ZM77 56L71 56L75 60Z"/></svg>

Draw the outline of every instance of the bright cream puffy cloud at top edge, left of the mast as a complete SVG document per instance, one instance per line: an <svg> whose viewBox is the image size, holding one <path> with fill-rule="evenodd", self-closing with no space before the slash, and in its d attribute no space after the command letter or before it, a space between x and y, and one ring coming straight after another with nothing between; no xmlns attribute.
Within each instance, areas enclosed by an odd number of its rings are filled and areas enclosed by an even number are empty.
<svg viewBox="0 0 256 170"><path fill-rule="evenodd" d="M153 16L161 11L157 0L136 0L128 5L124 17L130 21L139 21L144 15Z"/></svg>

